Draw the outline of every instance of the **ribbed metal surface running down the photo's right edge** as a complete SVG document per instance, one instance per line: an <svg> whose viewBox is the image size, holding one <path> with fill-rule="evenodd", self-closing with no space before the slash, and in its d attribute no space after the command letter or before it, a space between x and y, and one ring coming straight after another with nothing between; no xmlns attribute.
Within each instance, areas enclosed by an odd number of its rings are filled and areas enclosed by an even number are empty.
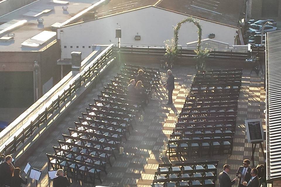
<svg viewBox="0 0 281 187"><path fill-rule="evenodd" d="M266 35L267 180L281 180L281 30Z"/></svg>

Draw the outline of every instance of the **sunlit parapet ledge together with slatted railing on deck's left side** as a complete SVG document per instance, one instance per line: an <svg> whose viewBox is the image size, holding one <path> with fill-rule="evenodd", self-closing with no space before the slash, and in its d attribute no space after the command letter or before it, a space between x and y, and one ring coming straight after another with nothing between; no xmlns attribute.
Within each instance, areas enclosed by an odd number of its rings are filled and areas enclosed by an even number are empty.
<svg viewBox="0 0 281 187"><path fill-rule="evenodd" d="M90 63L77 75L69 72L64 79L1 131L0 154L15 153L18 147L22 146L32 134L38 133L39 136L76 98L78 89L85 88L91 82L96 81L97 76L116 59L112 47L113 44L109 45L93 60L90 58ZM37 135L33 140L38 137ZM27 146L24 145L22 151Z"/></svg>

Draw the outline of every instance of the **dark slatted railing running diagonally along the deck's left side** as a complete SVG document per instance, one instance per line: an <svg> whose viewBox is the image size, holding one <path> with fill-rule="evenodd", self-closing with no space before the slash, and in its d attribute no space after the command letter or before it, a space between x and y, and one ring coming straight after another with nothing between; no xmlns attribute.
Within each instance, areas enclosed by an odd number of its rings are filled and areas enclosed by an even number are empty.
<svg viewBox="0 0 281 187"><path fill-rule="evenodd" d="M18 123L18 125L21 126L16 128L17 130L15 131L15 133L13 133L13 136L9 137L6 141L4 141L4 143L0 145L0 154L9 155L15 153L18 147L25 143L27 138L32 136L35 131L37 133L37 129L47 127L47 125L49 125L47 124L47 122L50 122L49 119L55 118L54 114L58 115L63 108L65 109L66 107L68 107L69 103L74 99L73 96L76 94L78 89L88 85L89 82L94 81L97 76L104 70L104 68L109 63L114 61L116 57L114 57L112 46L113 44L107 47L107 49L105 49L100 55L92 60L92 62L90 62L89 65L87 65L81 73L78 73L70 80L68 79L68 82L64 84L64 91L62 90L62 93L59 94L57 98L51 98L50 100L53 101L45 109L43 109L43 111L40 112L39 115L37 115L37 117L28 125L22 123L22 121L28 121L28 119L31 117L27 114L26 120L21 120L21 124ZM32 105L31 107L34 107L34 105ZM5 131L5 129L3 131ZM40 134L40 132L38 132L38 134ZM7 134L5 134L5 136L6 135ZM4 137L0 137L0 139L1 138Z"/></svg>

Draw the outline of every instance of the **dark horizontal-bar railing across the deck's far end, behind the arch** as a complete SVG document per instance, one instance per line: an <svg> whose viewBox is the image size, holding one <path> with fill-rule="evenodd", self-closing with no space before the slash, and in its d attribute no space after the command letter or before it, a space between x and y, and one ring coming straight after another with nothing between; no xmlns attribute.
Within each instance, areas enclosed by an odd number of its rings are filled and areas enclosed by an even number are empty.
<svg viewBox="0 0 281 187"><path fill-rule="evenodd" d="M194 50L196 47L178 47L179 53L178 58L192 58L196 56ZM204 48L205 49L205 48ZM237 60L247 59L248 50L242 49L216 49L216 48L206 48L210 51L210 58L231 58ZM114 44L114 52L118 51L118 44ZM166 46L148 46L148 45L130 45L122 44L120 52L121 53L131 53L131 54L150 54L155 56L164 56L166 51Z"/></svg>

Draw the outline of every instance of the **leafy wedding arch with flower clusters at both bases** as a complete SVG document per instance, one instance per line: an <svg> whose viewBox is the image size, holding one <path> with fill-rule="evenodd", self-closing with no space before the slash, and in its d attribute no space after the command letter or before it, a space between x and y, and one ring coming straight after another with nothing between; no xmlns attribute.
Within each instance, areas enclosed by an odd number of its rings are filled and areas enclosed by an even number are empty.
<svg viewBox="0 0 281 187"><path fill-rule="evenodd" d="M181 25L186 22L192 22L197 28L198 28L198 43L197 43L197 49L194 50L196 53L196 68L198 70L204 70L205 69L205 59L208 58L210 51L207 49L201 48L201 38L202 38L202 27L199 24L199 21L196 21L192 17L186 18L182 20L181 22L177 23L176 26L174 26L174 38L171 40L164 41L166 46L166 53L165 57L168 58L170 64L174 64L177 61L177 55L178 55L178 40L179 40L179 30L181 28Z"/></svg>

